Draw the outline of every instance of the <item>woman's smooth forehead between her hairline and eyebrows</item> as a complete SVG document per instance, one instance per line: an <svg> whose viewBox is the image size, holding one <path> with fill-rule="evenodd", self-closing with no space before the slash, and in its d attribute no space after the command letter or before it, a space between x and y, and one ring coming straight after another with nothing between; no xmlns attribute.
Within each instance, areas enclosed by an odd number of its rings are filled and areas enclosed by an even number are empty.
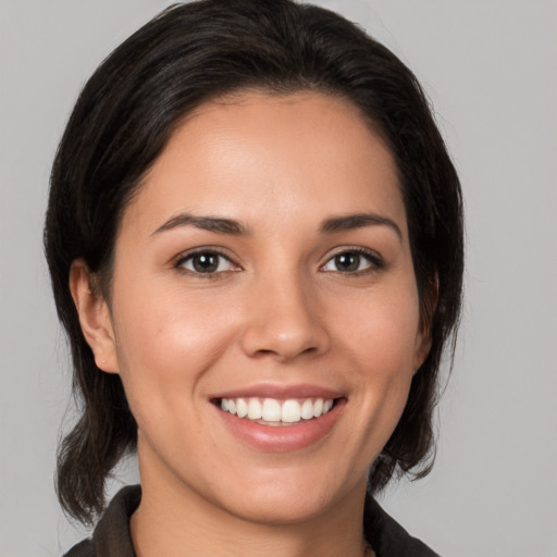
<svg viewBox="0 0 557 557"><path fill-rule="evenodd" d="M359 109L313 91L242 92L180 124L124 221L152 227L189 211L286 223L358 209L406 227L394 159Z"/></svg>

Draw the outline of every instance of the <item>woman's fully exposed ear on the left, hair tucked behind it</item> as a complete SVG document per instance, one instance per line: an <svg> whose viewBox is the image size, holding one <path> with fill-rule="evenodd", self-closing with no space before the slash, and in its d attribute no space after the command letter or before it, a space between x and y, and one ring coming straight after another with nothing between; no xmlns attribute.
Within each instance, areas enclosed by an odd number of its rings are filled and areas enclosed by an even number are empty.
<svg viewBox="0 0 557 557"><path fill-rule="evenodd" d="M95 284L95 276L83 259L72 262L70 292L82 331L95 355L95 363L108 373L119 373L114 330L107 301Z"/></svg>

